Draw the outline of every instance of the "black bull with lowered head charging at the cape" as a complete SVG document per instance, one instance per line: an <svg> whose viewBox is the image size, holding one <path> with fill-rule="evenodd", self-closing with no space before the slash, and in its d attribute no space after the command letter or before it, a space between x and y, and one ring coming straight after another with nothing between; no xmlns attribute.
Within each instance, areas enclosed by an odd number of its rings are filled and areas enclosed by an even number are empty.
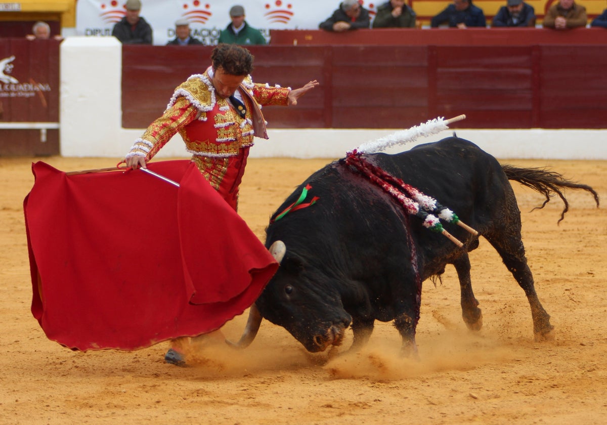
<svg viewBox="0 0 607 425"><path fill-rule="evenodd" d="M450 137L396 155L365 155L405 183L432 196L478 231L498 251L507 269L525 291L536 339L552 337L550 316L535 293L521 240L521 218L509 180L553 194L568 203L561 189L597 193L589 186L565 180L543 169L500 165L478 146ZM316 203L276 217L311 186ZM542 205L542 206L543 206ZM560 221L560 220L559 220ZM237 345L253 341L262 317L285 327L310 352L339 345L351 324L354 349L364 344L376 320L394 321L404 352L416 352L421 282L453 264L461 287L464 322L472 330L482 325L481 310L470 283L468 252L478 236L446 223L462 248L422 226L404 213L384 189L369 182L353 166L338 160L308 177L274 213L266 229L266 247L276 251L280 268L251 306L247 329ZM277 243L275 243L277 242ZM278 249L280 251L280 249Z"/></svg>

